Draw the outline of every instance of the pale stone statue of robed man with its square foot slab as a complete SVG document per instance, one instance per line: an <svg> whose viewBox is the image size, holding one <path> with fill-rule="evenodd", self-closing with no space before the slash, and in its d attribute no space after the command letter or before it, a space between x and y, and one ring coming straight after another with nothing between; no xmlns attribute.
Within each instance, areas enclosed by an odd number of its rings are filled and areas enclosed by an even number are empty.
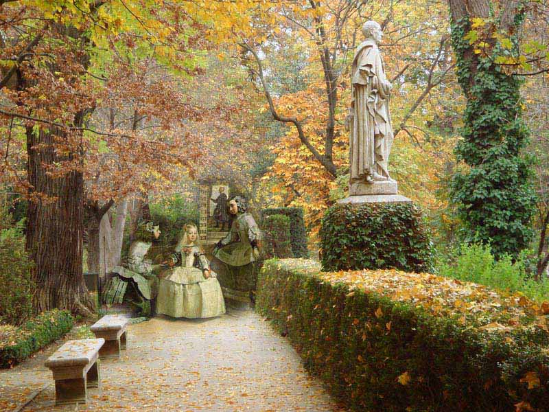
<svg viewBox="0 0 549 412"><path fill-rule="evenodd" d="M385 76L377 47L382 40L382 28L375 21L366 21L362 33L366 39L353 59L353 97L347 117L349 195L397 194L397 182L390 179L387 167L393 145L388 102L392 85Z"/></svg>

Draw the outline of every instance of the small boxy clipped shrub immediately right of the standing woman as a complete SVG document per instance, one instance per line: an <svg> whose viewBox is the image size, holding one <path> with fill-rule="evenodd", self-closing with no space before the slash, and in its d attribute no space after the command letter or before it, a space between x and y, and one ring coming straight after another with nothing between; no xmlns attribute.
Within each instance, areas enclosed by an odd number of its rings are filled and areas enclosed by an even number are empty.
<svg viewBox="0 0 549 412"><path fill-rule="evenodd" d="M261 222L264 242L261 252L266 259L292 258L290 218L281 214L265 216Z"/></svg>

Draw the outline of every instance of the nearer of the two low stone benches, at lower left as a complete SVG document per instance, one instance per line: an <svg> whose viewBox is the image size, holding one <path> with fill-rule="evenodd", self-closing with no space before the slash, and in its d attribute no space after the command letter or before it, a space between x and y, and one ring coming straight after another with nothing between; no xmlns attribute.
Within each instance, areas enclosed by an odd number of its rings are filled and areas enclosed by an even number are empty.
<svg viewBox="0 0 549 412"><path fill-rule="evenodd" d="M86 403L88 388L101 389L99 351L104 339L67 341L47 358L56 381L56 405Z"/></svg>

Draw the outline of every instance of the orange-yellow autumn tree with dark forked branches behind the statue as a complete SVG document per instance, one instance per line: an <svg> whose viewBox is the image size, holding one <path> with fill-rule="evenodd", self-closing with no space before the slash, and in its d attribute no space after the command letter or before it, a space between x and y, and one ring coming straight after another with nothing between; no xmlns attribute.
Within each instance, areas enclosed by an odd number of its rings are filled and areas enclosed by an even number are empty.
<svg viewBox="0 0 549 412"><path fill-rule="evenodd" d="M428 3L434 17L425 21L422 7ZM430 95L452 78L447 19L441 10L439 4L423 1L293 1L274 8L272 27L258 29L267 32L265 41L254 36L241 43L243 62L265 95L268 113L288 125L274 146L277 159L266 184L279 203L304 207L312 227L318 228L331 190L347 185L338 174L344 175L349 164L343 124L350 101L349 65L362 41L362 25L374 19L386 33L381 47L395 82L390 102L399 135L395 141L411 139L421 146L429 133L420 112ZM289 70L296 73L286 76L281 87L277 73ZM290 79L295 80L292 87Z"/></svg>

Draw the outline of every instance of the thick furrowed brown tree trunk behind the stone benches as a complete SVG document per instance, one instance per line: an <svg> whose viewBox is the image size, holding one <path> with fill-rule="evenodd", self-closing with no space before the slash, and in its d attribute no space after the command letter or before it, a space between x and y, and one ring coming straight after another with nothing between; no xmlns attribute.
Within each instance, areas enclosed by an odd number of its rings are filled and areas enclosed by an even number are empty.
<svg viewBox="0 0 549 412"><path fill-rule="evenodd" d="M30 196L50 198L34 198L27 211L26 247L35 263L32 274L37 286L34 308L37 312L62 308L89 314L92 301L82 275L84 181L79 171L56 179L47 174L45 165L73 158L72 154L56 154L59 136L54 132L26 130Z"/></svg>

